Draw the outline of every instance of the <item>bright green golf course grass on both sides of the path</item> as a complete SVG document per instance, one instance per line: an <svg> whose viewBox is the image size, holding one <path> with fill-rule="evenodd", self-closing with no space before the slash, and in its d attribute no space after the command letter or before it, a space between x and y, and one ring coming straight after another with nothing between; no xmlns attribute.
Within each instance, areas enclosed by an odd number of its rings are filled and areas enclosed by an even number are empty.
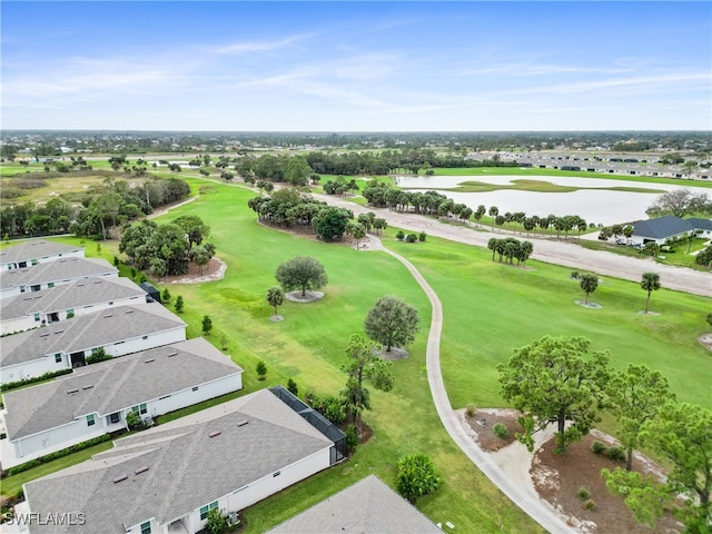
<svg viewBox="0 0 712 534"><path fill-rule="evenodd" d="M185 177L185 176L184 176ZM409 453L432 456L443 486L418 502L434 522L451 521L459 532L537 532L536 525L514 507L449 441L432 405L426 369L425 336L429 305L405 267L377 251L356 251L339 244L264 228L256 222L247 200L255 194L239 187L189 179L201 197L158 221L180 215L198 215L211 227L209 240L227 261L222 280L169 286L175 301L185 299L182 318L188 334L200 334L200 319L209 315L214 330L209 339L220 348L222 336L236 363L245 369L245 392L294 378L300 392L314 389L336 394L344 384L340 367L348 337L363 332L368 309L383 295L397 295L414 305L422 318L422 333L409 347L411 357L393 365L396 386L385 394L374 392L374 411L365 419L374 437L353 458L253 507L245 517L248 532L263 532L368 473L395 483L397 459ZM602 309L574 304L583 298L571 269L531 261L528 269L491 260L488 250L428 238L406 244L389 228L384 244L413 261L437 291L445 323L442 363L445 384L454 407L474 403L503 406L496 364L506 362L516 347L542 335L582 335L595 349L610 349L612 364L646 363L668 376L681 400L712 407L708 388L712 379L709 358L696 337L706 329L704 316L710 299L662 289L653 294L644 316L645 293L637 284L604 278L592 295ZM65 238L71 240L72 238ZM73 243L77 243L75 239ZM88 256L109 261L116 241L101 244L100 251L86 243ZM287 301L281 323L270 323L265 301L275 285L277 266L297 255L322 261L329 277L325 298L308 305ZM593 268L593 266L592 266ZM160 285L160 280L157 280ZM664 279L662 280L664 286ZM265 383L256 379L258 360L267 364ZM609 428L610 429L610 428ZM23 473L22 482L34 474ZM18 475L20 476L20 475ZM16 484L14 477L3 481Z"/></svg>

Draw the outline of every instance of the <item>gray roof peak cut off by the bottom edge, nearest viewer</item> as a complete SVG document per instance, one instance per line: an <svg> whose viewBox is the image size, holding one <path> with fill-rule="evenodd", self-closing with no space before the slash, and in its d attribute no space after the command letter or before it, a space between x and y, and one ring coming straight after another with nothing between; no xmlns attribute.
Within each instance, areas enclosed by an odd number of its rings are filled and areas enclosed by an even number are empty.
<svg viewBox="0 0 712 534"><path fill-rule="evenodd" d="M277 525L274 534L437 534L441 531L376 475Z"/></svg>

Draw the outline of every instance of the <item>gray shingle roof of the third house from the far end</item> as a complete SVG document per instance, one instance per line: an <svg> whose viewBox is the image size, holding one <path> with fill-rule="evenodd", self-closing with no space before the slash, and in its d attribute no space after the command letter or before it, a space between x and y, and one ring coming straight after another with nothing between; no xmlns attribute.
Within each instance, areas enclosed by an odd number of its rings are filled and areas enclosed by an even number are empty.
<svg viewBox="0 0 712 534"><path fill-rule="evenodd" d="M0 300L0 320L32 314L63 312L130 297L140 297L145 300L146 291L129 278L101 277L75 280Z"/></svg>

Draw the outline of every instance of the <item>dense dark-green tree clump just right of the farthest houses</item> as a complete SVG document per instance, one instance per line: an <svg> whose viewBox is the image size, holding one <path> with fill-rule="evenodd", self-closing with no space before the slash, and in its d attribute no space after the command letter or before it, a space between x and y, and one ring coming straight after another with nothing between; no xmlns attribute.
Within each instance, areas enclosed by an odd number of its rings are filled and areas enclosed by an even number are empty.
<svg viewBox="0 0 712 534"><path fill-rule="evenodd" d="M204 243L209 234L210 227L195 215L165 225L144 219L123 228L119 251L129 265L154 276L185 275L190 261L202 270L215 256L215 245Z"/></svg>

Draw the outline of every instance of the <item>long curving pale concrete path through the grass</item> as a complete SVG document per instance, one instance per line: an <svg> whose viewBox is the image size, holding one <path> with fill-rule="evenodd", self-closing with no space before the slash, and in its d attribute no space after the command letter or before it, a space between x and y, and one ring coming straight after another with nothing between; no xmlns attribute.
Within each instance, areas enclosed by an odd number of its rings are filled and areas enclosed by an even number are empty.
<svg viewBox="0 0 712 534"><path fill-rule="evenodd" d="M540 500L532 497L527 491L517 486L502 468L496 465L494 459L485 452L483 452L472 438L467 435L465 429L459 424L457 415L453 411L445 389L445 383L443 382L443 374L441 372L441 333L443 330L443 306L437 294L433 290L427 280L421 275L418 269L415 268L411 261L403 256L384 247L375 236L369 236L374 243L374 249L383 250L389 254L398 261L400 261L411 271L413 277L419 284L421 288L427 295L431 301L432 316L431 316L431 330L427 336L427 349L426 349L426 366L427 366L427 379L431 385L431 393L433 395L433 402L435 403L435 409L441 418L443 426L457 444L457 446L467 455L467 457L490 478L510 500L528 514L534 521L542 525L546 531L554 534L575 534L578 531L566 525L556 514L552 507L547 507Z"/></svg>

